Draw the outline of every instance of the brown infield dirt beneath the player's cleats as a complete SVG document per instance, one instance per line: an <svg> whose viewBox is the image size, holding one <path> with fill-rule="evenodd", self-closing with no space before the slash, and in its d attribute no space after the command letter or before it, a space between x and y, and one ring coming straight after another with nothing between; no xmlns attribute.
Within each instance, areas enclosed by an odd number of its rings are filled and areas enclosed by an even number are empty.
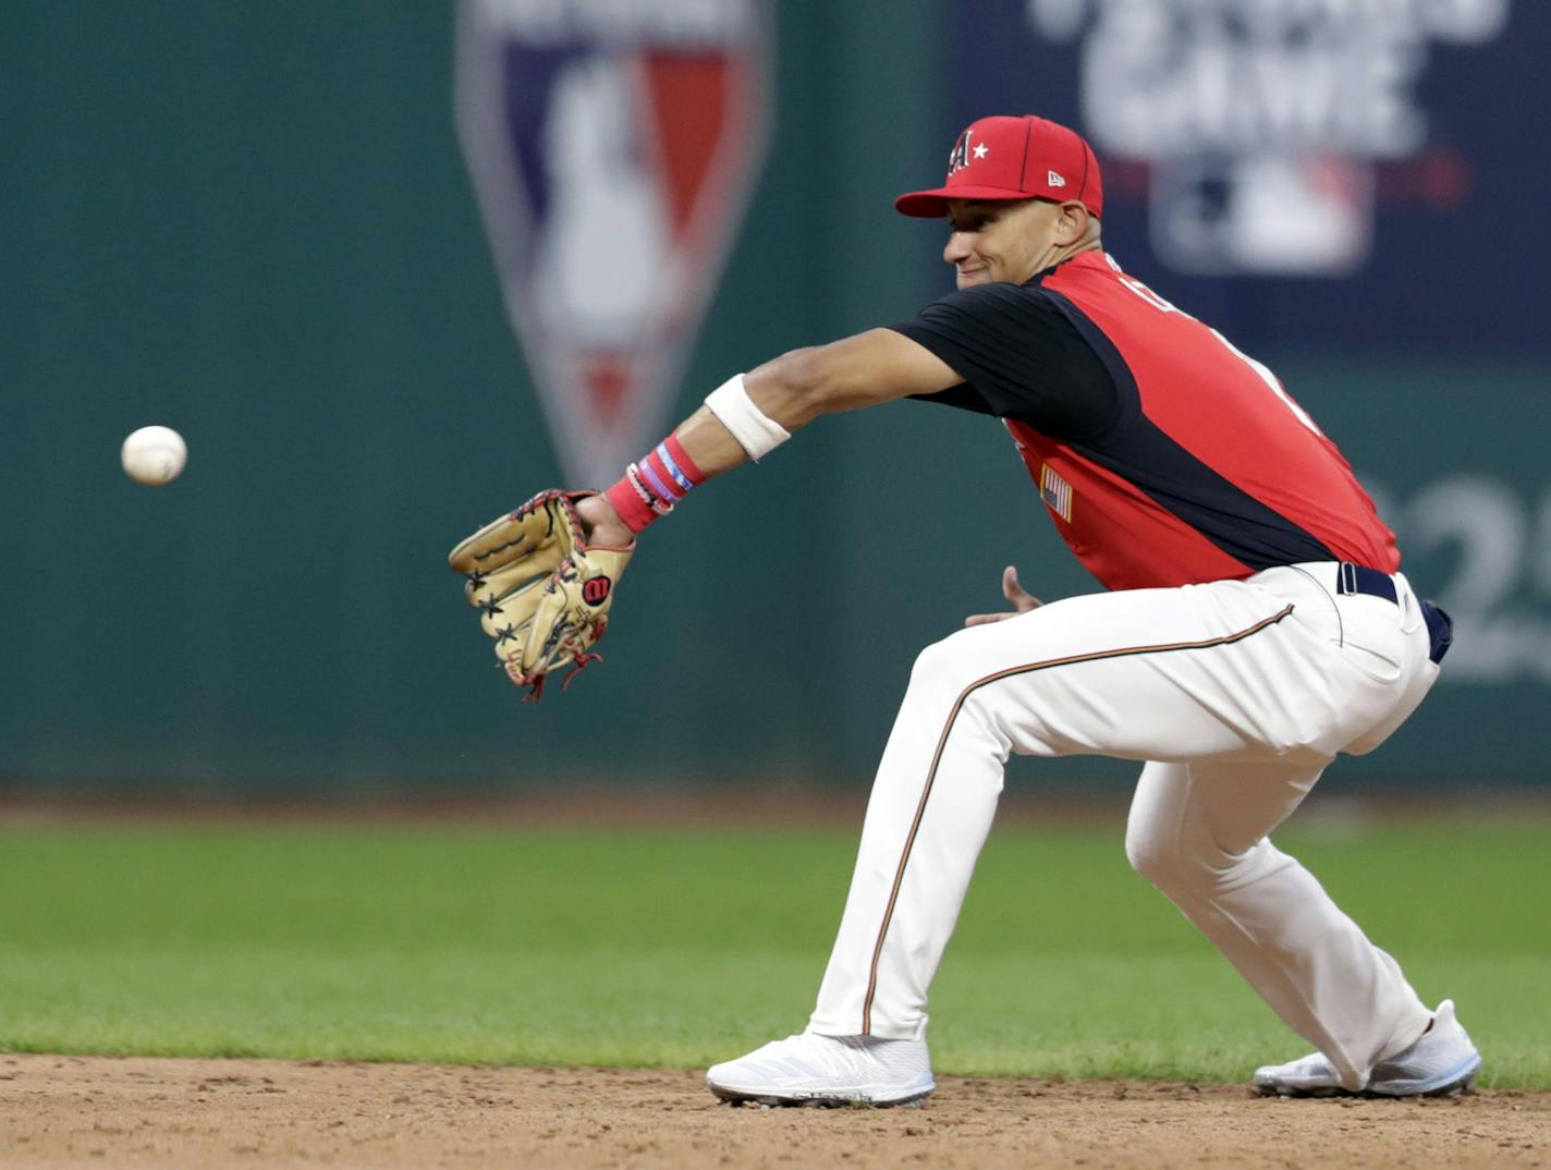
<svg viewBox="0 0 1551 1170"><path fill-rule="evenodd" d="M0 1057L39 1167L1551 1167L1551 1094L1284 1102L943 1078L924 1109L734 1109L689 1069Z"/></svg>

